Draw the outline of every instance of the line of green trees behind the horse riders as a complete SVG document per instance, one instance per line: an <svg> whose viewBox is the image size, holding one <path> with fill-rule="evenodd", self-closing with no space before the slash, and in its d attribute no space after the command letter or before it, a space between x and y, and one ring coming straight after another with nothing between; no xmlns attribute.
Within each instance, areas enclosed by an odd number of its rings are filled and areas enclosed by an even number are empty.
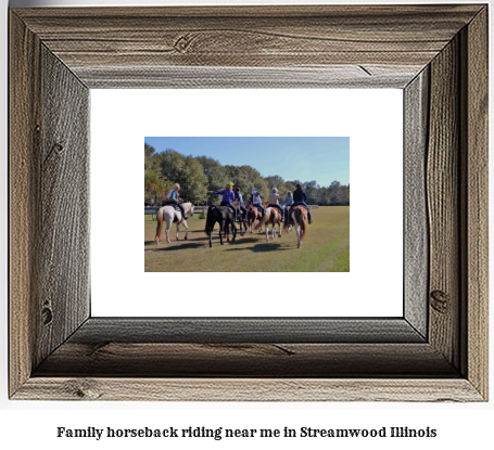
<svg viewBox="0 0 494 450"><path fill-rule="evenodd" d="M293 192L301 184L311 205L350 205L350 184L333 181L329 187L321 187L315 180L283 180L278 175L263 177L251 166L223 166L207 156L183 156L166 150L157 153L144 143L144 204L161 205L175 183L180 184L180 197L200 204L218 203L217 195L207 191L221 191L228 182L240 187L244 200L254 189L267 200L273 188L277 188L284 200L288 191Z"/></svg>

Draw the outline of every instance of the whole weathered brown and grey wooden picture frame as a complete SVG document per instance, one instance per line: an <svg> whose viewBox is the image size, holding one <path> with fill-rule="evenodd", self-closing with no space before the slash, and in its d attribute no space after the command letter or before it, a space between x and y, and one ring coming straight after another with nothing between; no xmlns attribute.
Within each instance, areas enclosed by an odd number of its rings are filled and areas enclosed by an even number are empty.
<svg viewBox="0 0 494 450"><path fill-rule="evenodd" d="M403 89L404 317L92 318L105 87ZM12 399L486 400L487 7L12 10L9 326Z"/></svg>

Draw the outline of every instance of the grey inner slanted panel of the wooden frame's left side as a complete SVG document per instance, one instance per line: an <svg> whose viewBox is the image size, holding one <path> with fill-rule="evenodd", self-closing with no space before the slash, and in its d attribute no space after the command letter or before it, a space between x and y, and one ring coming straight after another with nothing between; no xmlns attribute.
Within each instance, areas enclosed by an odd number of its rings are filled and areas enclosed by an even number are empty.
<svg viewBox="0 0 494 450"><path fill-rule="evenodd" d="M41 48L35 365L89 317L89 92Z"/></svg>

